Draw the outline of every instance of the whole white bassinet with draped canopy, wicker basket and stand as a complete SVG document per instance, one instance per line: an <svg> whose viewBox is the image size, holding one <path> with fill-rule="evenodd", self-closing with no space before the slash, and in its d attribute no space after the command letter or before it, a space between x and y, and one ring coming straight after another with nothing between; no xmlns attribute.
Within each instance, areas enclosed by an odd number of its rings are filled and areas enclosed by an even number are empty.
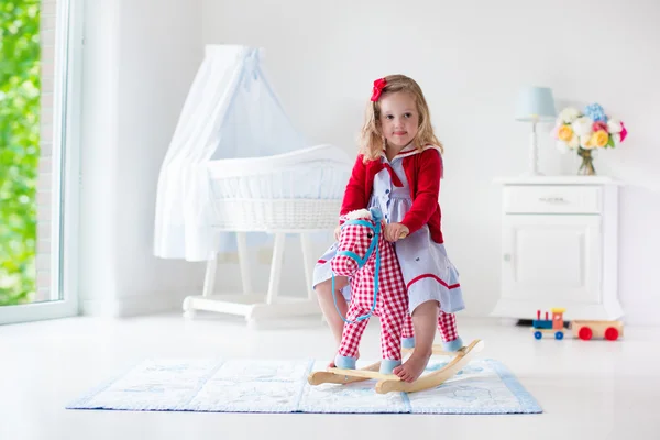
<svg viewBox="0 0 660 440"><path fill-rule="evenodd" d="M310 241L315 231L337 224L353 161L337 146L309 146L279 102L262 57L256 47L205 47L158 176L154 255L207 262L204 295L184 301L188 316L198 309L248 320L319 312ZM265 242L264 232L274 235L274 244L257 251L260 260L273 252L268 288L260 295L252 292L248 248ZM300 238L305 298L277 295L285 234ZM215 294L219 262L230 273L231 264L240 264L241 294Z"/></svg>

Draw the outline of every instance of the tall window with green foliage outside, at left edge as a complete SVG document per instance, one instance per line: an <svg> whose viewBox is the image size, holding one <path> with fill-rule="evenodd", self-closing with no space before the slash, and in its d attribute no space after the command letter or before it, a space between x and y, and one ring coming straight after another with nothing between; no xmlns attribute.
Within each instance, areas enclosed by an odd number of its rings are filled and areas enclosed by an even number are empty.
<svg viewBox="0 0 660 440"><path fill-rule="evenodd" d="M76 4L0 4L0 323L77 314Z"/></svg>

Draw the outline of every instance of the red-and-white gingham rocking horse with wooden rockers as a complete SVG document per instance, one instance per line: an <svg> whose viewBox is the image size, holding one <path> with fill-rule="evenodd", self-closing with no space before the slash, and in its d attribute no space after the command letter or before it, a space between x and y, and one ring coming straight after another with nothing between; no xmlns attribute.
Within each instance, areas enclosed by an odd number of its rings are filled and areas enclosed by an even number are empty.
<svg viewBox="0 0 660 440"><path fill-rule="evenodd" d="M350 212L342 224L337 255L331 261L332 273L350 276L351 301L344 320L342 341L334 359L336 367L309 375L310 385L324 383L349 384L375 378L376 393L414 393L441 385L457 374L481 351L483 342L473 341L458 351L447 352L440 345L433 345L433 354L455 355L441 370L424 375L413 383L403 382L393 370L402 364L402 339L414 340L414 330L408 314L408 295L392 243L382 233L382 213L377 208ZM334 295L334 277L332 278ZM337 307L337 298L334 298ZM339 312L339 307L337 307ZM441 314L443 314L441 311ZM341 316L341 312L340 312ZM382 361L362 370L355 369L358 346L369 318L381 318ZM444 317L439 328L444 331ZM414 348L404 346L405 351Z"/></svg>

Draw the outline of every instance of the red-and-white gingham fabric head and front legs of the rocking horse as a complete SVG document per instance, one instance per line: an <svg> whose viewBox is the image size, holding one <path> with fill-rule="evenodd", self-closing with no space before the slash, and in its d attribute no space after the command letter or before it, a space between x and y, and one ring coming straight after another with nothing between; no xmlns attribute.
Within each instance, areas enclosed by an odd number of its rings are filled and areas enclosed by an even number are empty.
<svg viewBox="0 0 660 440"><path fill-rule="evenodd" d="M363 218L373 224L371 217ZM392 243L382 233L374 235L374 230L363 224L345 222L339 240L338 254L332 258L332 271L337 275L350 276L351 302L346 312L346 322L342 334L339 355L355 358L369 319L358 322L359 317L367 315L374 304L376 252L372 252L366 263L360 268L358 262L342 251L353 252L364 258L372 240L377 241L380 254L378 292L374 316L381 318L381 351L384 360L400 361L402 333L408 316L408 294L402 275L398 260ZM407 332L411 332L408 322ZM411 334L409 336L411 337Z"/></svg>

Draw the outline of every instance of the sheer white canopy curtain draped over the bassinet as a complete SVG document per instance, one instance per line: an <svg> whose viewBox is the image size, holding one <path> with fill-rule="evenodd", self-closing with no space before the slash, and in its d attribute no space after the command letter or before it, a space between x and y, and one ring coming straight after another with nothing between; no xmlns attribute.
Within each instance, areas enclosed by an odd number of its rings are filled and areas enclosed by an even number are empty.
<svg viewBox="0 0 660 440"><path fill-rule="evenodd" d="M161 168L154 254L205 261L231 246L211 231L210 161L261 157L306 146L261 67L262 51L209 45Z"/></svg>

